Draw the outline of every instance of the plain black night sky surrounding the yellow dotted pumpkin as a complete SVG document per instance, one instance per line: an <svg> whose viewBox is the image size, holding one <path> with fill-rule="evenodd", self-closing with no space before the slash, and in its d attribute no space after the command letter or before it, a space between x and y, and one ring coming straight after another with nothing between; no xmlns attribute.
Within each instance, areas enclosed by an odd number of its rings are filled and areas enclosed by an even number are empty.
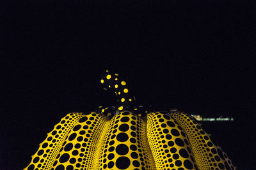
<svg viewBox="0 0 256 170"><path fill-rule="evenodd" d="M141 104L203 122L239 169L255 167L253 1L1 1L0 169L22 169L67 113L115 104L120 73Z"/></svg>

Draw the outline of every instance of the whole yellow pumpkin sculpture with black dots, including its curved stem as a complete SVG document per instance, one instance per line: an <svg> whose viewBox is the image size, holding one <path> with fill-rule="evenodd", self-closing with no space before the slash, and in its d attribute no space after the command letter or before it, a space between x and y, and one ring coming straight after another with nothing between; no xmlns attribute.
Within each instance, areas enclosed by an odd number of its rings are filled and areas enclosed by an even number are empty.
<svg viewBox="0 0 256 170"><path fill-rule="evenodd" d="M193 117L132 106L118 74L106 71L100 83L114 90L116 109L69 113L25 169L236 169Z"/></svg>

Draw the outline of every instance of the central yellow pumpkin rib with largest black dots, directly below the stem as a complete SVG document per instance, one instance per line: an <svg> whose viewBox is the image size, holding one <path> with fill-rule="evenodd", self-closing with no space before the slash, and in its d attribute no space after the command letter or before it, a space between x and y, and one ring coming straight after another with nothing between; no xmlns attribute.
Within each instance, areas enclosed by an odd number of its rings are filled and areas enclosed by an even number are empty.
<svg viewBox="0 0 256 170"><path fill-rule="evenodd" d="M138 115L122 112L110 120L99 169L155 169L145 137L145 123Z"/></svg>

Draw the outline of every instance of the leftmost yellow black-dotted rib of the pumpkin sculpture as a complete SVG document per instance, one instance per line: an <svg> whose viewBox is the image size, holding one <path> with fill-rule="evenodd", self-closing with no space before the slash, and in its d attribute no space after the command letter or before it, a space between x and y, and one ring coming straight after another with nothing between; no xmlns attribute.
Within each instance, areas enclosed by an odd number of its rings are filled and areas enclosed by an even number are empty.
<svg viewBox="0 0 256 170"><path fill-rule="evenodd" d="M68 113L66 117L62 118L51 133L47 134L44 142L40 143L38 151L32 156L31 163L25 169L51 169L68 132L81 117L83 117L82 113Z"/></svg>

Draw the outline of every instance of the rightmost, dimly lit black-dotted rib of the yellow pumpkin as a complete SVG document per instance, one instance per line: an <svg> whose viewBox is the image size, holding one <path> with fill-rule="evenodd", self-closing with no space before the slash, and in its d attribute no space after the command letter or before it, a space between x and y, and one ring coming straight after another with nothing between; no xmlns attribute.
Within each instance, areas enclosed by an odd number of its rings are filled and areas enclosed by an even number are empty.
<svg viewBox="0 0 256 170"><path fill-rule="evenodd" d="M199 169L236 169L227 154L221 150L220 146L212 143L211 135L207 134L193 117L178 112L170 113L170 116L179 122L188 135Z"/></svg>

